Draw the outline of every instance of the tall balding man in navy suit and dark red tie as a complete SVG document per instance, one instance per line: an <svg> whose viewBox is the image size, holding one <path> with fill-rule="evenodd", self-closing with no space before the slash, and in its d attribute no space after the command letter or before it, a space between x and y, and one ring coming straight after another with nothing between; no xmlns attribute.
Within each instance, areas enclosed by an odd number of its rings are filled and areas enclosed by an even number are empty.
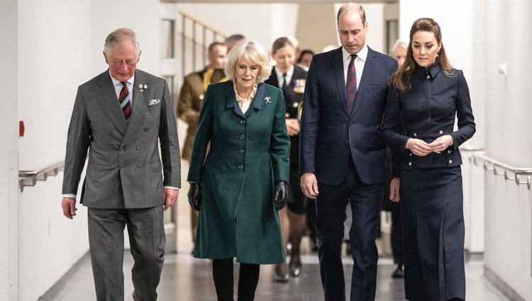
<svg viewBox="0 0 532 301"><path fill-rule="evenodd" d="M397 70L397 61L367 47L362 6L345 4L337 21L342 47L315 55L306 79L301 189L307 197L316 198L325 300L345 300L340 249L348 204L353 212L350 300L375 300L375 239L386 179L381 122L388 79Z"/></svg>

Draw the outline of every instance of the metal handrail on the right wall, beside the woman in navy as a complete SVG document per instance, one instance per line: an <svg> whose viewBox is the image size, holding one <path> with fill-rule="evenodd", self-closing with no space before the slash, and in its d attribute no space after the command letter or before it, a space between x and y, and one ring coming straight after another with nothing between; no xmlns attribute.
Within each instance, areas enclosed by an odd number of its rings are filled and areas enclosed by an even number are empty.
<svg viewBox="0 0 532 301"><path fill-rule="evenodd" d="M471 154L473 164L476 166L484 166L485 171L493 171L496 176L504 176L507 181L515 181L516 185L526 185L528 190L532 186L532 167L514 167L509 164L502 163L482 152ZM477 161L482 160L482 164Z"/></svg>

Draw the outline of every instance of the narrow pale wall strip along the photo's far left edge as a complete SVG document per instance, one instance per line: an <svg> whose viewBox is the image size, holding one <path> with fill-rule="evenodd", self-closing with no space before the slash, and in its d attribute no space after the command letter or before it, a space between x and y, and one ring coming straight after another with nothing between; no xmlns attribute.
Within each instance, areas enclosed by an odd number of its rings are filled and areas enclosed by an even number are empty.
<svg viewBox="0 0 532 301"><path fill-rule="evenodd" d="M0 10L0 300L18 297L18 4Z"/></svg>

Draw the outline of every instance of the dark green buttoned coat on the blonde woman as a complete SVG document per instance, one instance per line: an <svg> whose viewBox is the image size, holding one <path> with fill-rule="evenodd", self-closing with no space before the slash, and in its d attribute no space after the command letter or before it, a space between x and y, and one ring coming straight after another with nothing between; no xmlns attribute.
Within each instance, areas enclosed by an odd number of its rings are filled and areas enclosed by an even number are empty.
<svg viewBox="0 0 532 301"><path fill-rule="evenodd" d="M199 114L188 181L201 183L194 257L282 263L275 181L288 181L282 92L259 84L242 113L233 82L211 84Z"/></svg>

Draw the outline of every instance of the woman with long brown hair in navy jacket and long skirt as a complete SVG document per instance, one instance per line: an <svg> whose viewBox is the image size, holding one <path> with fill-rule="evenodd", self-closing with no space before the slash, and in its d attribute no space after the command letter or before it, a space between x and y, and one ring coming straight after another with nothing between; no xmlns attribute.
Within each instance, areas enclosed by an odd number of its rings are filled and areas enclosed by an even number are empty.
<svg viewBox="0 0 532 301"><path fill-rule="evenodd" d="M406 299L465 300L458 147L475 133L475 121L464 75L450 66L440 27L431 18L412 25L383 127L394 150L390 198L401 199Z"/></svg>

